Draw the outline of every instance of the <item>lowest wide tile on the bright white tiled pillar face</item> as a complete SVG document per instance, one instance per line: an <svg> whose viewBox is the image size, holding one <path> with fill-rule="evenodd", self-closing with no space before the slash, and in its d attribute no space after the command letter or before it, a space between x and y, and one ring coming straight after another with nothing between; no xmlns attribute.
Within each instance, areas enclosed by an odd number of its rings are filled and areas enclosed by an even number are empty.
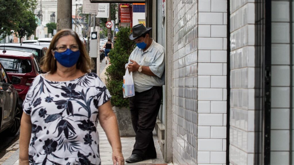
<svg viewBox="0 0 294 165"><path fill-rule="evenodd" d="M222 151L223 139L198 139L198 151Z"/></svg>

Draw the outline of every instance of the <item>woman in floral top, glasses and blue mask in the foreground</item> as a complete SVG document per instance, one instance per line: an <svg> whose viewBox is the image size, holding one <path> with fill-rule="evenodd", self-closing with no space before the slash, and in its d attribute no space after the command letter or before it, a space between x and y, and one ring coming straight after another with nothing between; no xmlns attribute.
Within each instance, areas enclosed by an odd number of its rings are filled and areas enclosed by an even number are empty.
<svg viewBox="0 0 294 165"><path fill-rule="evenodd" d="M111 95L71 29L51 41L42 69L23 103L20 164L101 164L98 120L112 146L113 164L124 164Z"/></svg>

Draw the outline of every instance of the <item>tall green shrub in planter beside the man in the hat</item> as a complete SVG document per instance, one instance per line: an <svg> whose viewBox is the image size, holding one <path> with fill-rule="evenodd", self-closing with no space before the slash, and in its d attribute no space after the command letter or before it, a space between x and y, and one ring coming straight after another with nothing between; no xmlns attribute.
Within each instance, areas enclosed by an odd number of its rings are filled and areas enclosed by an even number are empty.
<svg viewBox="0 0 294 165"><path fill-rule="evenodd" d="M121 27L116 34L116 42L114 48L108 53L111 59L111 65L106 69L106 87L109 90L111 104L116 107L129 107L128 98L123 98L123 76L126 73L125 64L128 63L128 58L135 48L135 42L131 41L131 28Z"/></svg>

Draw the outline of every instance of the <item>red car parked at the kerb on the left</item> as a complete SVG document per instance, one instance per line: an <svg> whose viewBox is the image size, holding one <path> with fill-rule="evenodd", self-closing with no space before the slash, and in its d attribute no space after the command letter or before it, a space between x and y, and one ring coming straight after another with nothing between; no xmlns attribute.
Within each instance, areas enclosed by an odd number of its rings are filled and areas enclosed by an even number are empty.
<svg viewBox="0 0 294 165"><path fill-rule="evenodd" d="M12 76L21 79L14 87L19 93L19 105L22 105L31 83L41 73L36 55L16 50L0 50L0 62L11 80Z"/></svg>

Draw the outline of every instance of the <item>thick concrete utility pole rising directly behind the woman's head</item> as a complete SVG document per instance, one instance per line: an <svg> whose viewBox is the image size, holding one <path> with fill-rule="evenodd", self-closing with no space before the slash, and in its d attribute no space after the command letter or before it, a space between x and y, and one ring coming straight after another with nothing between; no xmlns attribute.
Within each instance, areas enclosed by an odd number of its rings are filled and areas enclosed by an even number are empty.
<svg viewBox="0 0 294 165"><path fill-rule="evenodd" d="M71 29L71 9L72 9L71 0L58 0L57 1L57 31L61 29Z"/></svg>

